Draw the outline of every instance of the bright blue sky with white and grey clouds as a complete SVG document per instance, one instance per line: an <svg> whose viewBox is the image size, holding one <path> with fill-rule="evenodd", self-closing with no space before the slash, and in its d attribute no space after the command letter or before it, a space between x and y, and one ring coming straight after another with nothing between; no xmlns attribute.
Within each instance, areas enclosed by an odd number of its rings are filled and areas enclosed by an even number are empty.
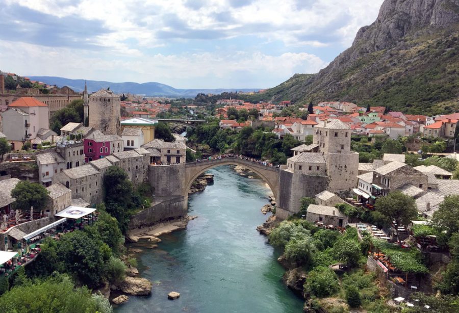
<svg viewBox="0 0 459 313"><path fill-rule="evenodd" d="M383 0L0 0L0 70L175 88L316 73Z"/></svg>

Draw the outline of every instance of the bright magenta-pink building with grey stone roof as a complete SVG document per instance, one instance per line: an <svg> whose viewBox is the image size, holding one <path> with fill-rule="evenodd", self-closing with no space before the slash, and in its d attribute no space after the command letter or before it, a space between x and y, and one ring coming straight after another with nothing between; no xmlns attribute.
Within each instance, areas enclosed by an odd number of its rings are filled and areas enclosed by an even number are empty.
<svg viewBox="0 0 459 313"><path fill-rule="evenodd" d="M85 163L104 158L113 152L123 151L123 140L118 135L104 135L94 131L84 140Z"/></svg>

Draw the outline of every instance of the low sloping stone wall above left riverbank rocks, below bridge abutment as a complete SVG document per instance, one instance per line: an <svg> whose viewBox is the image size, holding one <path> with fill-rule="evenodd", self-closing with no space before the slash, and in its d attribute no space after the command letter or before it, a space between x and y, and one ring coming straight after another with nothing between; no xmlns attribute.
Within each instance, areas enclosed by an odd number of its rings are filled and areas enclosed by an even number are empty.
<svg viewBox="0 0 459 313"><path fill-rule="evenodd" d="M152 226L187 215L187 199L184 196L170 197L156 205L137 213L131 218L130 229Z"/></svg>

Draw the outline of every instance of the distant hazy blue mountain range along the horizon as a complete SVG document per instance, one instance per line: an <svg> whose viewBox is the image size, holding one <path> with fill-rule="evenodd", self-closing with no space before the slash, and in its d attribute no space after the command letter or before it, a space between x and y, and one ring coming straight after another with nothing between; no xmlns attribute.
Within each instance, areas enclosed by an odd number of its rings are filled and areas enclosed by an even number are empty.
<svg viewBox="0 0 459 313"><path fill-rule="evenodd" d="M27 76L33 81L40 81L48 85L56 85L58 87L68 86L74 91L82 92L85 89L85 80L70 80L64 77L56 76ZM88 92L94 92L101 88L107 89L110 87L110 90L115 93L131 93L139 94L145 96L164 96L164 97L185 97L185 98L194 98L198 93L212 93L220 94L222 92L251 92L258 91L260 89L176 89L168 85L150 82L150 83L113 83L113 82L104 82L104 81L86 81L88 86Z"/></svg>

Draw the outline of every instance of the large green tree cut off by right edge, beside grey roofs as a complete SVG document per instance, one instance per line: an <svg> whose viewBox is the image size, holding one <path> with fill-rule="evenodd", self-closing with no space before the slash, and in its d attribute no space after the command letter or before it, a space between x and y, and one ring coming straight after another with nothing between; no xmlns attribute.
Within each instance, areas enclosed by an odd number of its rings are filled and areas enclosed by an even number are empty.
<svg viewBox="0 0 459 313"><path fill-rule="evenodd" d="M450 195L440 203L439 210L433 213L433 225L440 230L446 230L446 233L451 236L455 232L459 232L459 195Z"/></svg>

